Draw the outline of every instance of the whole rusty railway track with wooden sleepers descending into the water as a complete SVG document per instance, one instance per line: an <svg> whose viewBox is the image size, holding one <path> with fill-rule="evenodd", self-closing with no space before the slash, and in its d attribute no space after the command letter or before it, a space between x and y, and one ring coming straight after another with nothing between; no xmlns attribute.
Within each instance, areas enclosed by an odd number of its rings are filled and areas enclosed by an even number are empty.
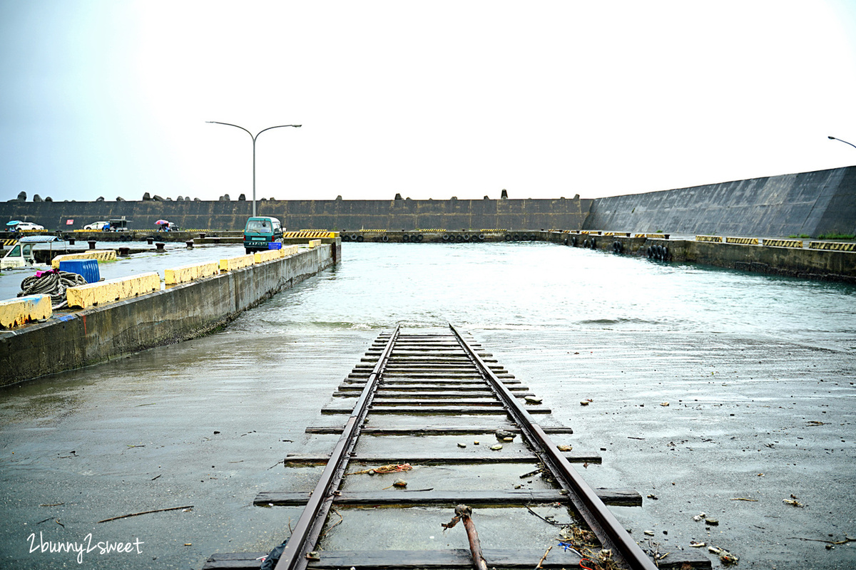
<svg viewBox="0 0 856 570"><path fill-rule="evenodd" d="M642 497L587 485L571 463L599 455L552 441L573 431L539 426L550 409L455 326L381 334L333 396L322 413L347 421L306 432L339 434L335 449L283 461L324 466L314 490L254 500L304 506L277 570L710 567L683 552L655 564L607 507ZM204 568L259 568L267 554Z"/></svg>

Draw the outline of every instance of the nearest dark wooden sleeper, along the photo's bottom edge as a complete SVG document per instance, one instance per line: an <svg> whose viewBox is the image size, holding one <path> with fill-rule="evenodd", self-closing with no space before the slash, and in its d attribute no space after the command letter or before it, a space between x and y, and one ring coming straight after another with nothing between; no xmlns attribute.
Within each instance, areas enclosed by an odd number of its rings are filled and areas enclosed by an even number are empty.
<svg viewBox="0 0 856 570"><path fill-rule="evenodd" d="M541 560L540 549L482 549L488 567L533 568ZM266 552L247 552L211 555L203 570L258 570ZM468 549L443 550L322 550L319 560L309 561L312 570L336 570L355 567L360 570L386 568L472 568L473 556ZM681 568L688 564L693 570L709 570L710 558L703 552L672 552L657 562L660 568ZM586 564L586 566L589 566ZM580 568L580 557L572 550L554 546L542 567Z"/></svg>

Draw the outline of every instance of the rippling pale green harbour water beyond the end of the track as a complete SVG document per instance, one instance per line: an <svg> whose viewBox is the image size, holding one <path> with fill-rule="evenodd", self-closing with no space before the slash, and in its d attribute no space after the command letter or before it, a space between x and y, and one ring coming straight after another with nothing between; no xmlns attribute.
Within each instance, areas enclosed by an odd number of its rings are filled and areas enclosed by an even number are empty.
<svg viewBox="0 0 856 570"><path fill-rule="evenodd" d="M343 262L232 330L728 332L856 350L856 287L555 244L343 244Z"/></svg>

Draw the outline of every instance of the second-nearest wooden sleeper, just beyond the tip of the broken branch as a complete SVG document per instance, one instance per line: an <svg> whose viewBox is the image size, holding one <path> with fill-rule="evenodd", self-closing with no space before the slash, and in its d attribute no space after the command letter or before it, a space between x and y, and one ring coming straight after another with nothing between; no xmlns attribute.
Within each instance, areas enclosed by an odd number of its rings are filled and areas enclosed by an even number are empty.
<svg viewBox="0 0 856 570"><path fill-rule="evenodd" d="M639 507L642 496L633 489L594 490L603 504ZM262 491L253 500L255 505L277 505L299 507L309 500L308 492ZM333 498L337 505L360 507L373 505L526 505L531 503L568 502L568 495L559 490L535 491L531 489L509 489L496 491L342 491Z"/></svg>

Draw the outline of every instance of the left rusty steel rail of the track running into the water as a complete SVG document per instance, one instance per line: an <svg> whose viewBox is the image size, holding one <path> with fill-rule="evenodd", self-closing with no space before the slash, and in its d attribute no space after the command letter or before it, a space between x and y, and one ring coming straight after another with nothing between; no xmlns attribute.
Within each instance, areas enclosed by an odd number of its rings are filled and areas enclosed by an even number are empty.
<svg viewBox="0 0 856 570"><path fill-rule="evenodd" d="M354 411L351 412L348 422L342 430L342 436L336 443L333 453L330 455L330 461L327 461L327 467L324 467L324 473L321 473L321 479L318 480L318 485L315 485L312 495L309 497L309 502L300 514L300 519L297 520L297 525L294 526L294 531L291 537L288 538L288 544L282 550L282 556L276 562L275 570L305 570L308 560L306 555L318 542L318 536L321 534L321 529L324 527L324 521L327 520L327 514L330 513L330 507L333 504L333 497L342 482L342 476L345 469L348 468L348 460L350 454L354 450L354 445L357 438L360 437L360 427L366 420L369 406L372 403L372 398L377 391L377 380L383 373L383 368L386 367L389 361L389 355L392 353L392 348L401 331L401 325L395 326L395 330L389 336L389 342L383 349L383 352L377 359L377 364L369 374L366 381L366 386L360 393L360 398L354 404Z"/></svg>

